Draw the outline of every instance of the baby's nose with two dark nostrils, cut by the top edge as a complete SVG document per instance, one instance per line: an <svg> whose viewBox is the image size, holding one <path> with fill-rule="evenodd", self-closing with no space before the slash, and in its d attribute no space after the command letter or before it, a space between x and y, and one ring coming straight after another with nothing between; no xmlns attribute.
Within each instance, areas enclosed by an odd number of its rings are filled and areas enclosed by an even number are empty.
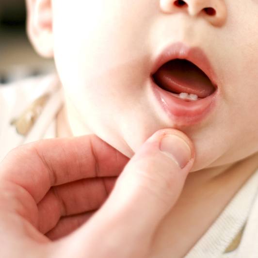
<svg viewBox="0 0 258 258"><path fill-rule="evenodd" d="M160 0L160 7L164 13L185 12L190 16L203 17L216 27L226 22L225 0Z"/></svg>

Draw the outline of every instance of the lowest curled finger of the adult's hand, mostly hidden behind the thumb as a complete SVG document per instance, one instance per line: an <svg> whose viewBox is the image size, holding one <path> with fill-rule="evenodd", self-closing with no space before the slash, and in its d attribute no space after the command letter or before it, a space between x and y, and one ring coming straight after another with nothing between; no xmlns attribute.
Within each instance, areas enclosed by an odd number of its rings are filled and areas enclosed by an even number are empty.
<svg viewBox="0 0 258 258"><path fill-rule="evenodd" d="M62 218L58 224L45 235L52 241L58 240L80 227L94 214L94 211Z"/></svg>

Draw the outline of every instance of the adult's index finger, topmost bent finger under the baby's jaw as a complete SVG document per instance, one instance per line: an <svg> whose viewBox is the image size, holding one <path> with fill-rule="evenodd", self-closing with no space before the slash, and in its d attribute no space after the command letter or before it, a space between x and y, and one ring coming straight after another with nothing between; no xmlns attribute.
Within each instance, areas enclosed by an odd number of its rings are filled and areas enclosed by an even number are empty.
<svg viewBox="0 0 258 258"><path fill-rule="evenodd" d="M0 180L23 187L38 203L51 186L114 177L128 161L94 134L41 140L11 151L0 164Z"/></svg>

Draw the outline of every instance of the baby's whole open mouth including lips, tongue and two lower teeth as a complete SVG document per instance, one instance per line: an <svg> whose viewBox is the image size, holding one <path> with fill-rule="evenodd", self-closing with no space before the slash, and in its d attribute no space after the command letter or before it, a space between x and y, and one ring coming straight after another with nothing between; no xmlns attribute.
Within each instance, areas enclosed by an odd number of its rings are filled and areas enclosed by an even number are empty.
<svg viewBox="0 0 258 258"><path fill-rule="evenodd" d="M208 116L219 103L217 83L205 52L182 42L163 49L150 73L153 96L174 126L190 126Z"/></svg>

